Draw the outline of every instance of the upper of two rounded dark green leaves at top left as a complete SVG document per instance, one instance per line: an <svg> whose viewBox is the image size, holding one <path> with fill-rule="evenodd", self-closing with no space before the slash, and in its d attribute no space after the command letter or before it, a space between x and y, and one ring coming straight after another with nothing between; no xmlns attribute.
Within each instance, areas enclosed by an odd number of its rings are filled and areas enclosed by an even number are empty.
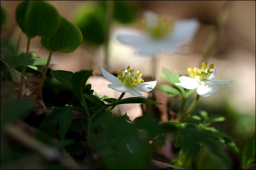
<svg viewBox="0 0 256 170"><path fill-rule="evenodd" d="M16 9L16 21L28 37L53 35L60 20L57 10L45 1L23 1Z"/></svg>

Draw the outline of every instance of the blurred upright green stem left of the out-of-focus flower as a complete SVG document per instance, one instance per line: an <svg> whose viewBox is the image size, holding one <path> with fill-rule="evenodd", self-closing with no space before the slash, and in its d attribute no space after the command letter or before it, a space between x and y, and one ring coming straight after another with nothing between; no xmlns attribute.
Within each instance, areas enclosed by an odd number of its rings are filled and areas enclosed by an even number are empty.
<svg viewBox="0 0 256 170"><path fill-rule="evenodd" d="M113 11L114 11L114 0L107 0L107 13L105 17L105 28L106 28L106 33L105 33L105 68L108 70L108 42L109 42L109 28L111 26L111 20L113 17Z"/></svg>

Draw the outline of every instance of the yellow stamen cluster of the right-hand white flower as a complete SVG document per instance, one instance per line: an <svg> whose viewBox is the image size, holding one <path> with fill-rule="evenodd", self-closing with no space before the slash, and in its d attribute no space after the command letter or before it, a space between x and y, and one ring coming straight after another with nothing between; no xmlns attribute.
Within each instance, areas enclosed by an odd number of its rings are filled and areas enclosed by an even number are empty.
<svg viewBox="0 0 256 170"><path fill-rule="evenodd" d="M195 67L194 69L188 68L188 72L190 73L190 77L196 78L197 81L202 81L210 77L210 74L213 73L213 64L207 68L207 62L202 62L202 68Z"/></svg>

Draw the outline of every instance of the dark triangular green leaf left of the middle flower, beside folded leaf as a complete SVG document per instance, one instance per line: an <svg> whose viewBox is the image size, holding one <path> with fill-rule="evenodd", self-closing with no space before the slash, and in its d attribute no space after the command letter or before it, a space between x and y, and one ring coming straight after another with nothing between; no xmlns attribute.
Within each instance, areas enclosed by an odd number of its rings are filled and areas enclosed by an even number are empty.
<svg viewBox="0 0 256 170"><path fill-rule="evenodd" d="M73 91L71 78L74 73L71 71L55 70L51 71L51 75L57 79L61 84L65 85L69 90Z"/></svg>

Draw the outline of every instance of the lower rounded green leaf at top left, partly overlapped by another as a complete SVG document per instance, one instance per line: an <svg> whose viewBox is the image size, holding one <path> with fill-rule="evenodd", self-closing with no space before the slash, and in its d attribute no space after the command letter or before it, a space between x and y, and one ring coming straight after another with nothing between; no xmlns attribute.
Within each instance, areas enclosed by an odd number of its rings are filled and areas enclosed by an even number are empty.
<svg viewBox="0 0 256 170"><path fill-rule="evenodd" d="M42 37L41 45L46 50L71 53L82 43L82 33L77 26L61 17L60 26L51 37Z"/></svg>

